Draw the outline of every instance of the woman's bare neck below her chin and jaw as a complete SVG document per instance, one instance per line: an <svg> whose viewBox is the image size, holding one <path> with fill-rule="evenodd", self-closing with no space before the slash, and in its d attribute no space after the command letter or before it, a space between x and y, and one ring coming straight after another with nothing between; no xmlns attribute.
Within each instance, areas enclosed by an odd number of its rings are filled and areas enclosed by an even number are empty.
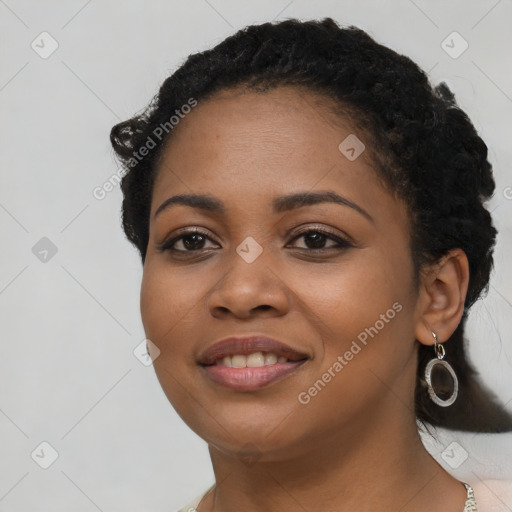
<svg viewBox="0 0 512 512"><path fill-rule="evenodd" d="M199 512L460 512L463 485L431 457L415 421L394 402L396 415L387 404L386 417L398 421L367 419L365 426L301 440L300 446L288 446L286 455L241 457L210 445L217 484Z"/></svg>

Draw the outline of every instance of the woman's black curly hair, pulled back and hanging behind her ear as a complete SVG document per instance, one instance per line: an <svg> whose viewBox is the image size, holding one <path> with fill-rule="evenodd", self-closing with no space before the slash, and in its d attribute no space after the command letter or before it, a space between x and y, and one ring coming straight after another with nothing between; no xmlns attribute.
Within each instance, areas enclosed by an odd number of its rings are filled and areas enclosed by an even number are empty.
<svg viewBox="0 0 512 512"><path fill-rule="evenodd" d="M418 344L416 418L427 428L511 431L511 415L468 362L463 336L468 310L487 292L493 265L496 230L484 202L495 183L487 146L445 84L432 87L412 60L363 30L342 28L330 18L248 26L214 48L190 55L145 110L112 128L111 143L125 171L123 229L142 263L157 164L172 136L172 130L162 136L158 127L191 97L204 101L223 89L265 91L284 85L330 98L364 129L379 178L407 206L416 279L425 264L451 249L467 255L464 313L447 340L446 356L459 378L459 397L447 408L428 398L423 373L432 350ZM149 140L155 147L135 159Z"/></svg>

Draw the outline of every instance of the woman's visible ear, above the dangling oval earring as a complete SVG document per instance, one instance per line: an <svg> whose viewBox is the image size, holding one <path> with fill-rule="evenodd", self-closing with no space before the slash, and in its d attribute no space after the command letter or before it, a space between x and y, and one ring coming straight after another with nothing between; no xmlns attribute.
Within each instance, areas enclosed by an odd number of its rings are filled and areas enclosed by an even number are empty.
<svg viewBox="0 0 512 512"><path fill-rule="evenodd" d="M421 275L416 305L415 336L424 345L433 345L436 333L446 341L459 325L469 283L468 258L462 249L453 249L430 265Z"/></svg>

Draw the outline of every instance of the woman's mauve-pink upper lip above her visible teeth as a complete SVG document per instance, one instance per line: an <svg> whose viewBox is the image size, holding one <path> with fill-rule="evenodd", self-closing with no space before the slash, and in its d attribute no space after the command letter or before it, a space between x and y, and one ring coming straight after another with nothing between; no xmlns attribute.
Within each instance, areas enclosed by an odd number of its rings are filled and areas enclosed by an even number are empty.
<svg viewBox="0 0 512 512"><path fill-rule="evenodd" d="M217 341L203 350L198 362L201 365L214 364L215 361L235 354L248 355L254 352L272 352L284 356L292 361L300 361L308 357L292 347L263 335L232 336Z"/></svg>

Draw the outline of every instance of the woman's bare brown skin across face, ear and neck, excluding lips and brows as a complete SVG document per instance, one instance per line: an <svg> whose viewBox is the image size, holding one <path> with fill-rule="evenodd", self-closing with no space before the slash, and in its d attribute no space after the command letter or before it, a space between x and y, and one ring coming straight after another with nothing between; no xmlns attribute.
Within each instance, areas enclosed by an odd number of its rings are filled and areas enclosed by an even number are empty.
<svg viewBox="0 0 512 512"><path fill-rule="evenodd" d="M160 162L141 314L160 350L164 392L209 446L217 485L198 510L460 512L465 489L423 447L413 404L418 342L432 345L431 331L443 342L458 325L467 259L450 252L415 286L405 206L378 179L369 151L349 161L338 150L349 134L364 134L329 101L292 87L224 90L180 121ZM272 210L278 196L318 191L349 199L371 220L334 203ZM214 196L225 212L172 205L155 217L176 194ZM190 227L208 237L195 252L190 236L188 246L175 243L179 254L158 249ZM336 249L326 238L327 250L315 253L303 228L351 245ZM263 248L252 263L235 250L248 236ZM396 302L401 311L300 403ZM252 392L215 384L198 366L205 347L257 333L309 360Z"/></svg>

